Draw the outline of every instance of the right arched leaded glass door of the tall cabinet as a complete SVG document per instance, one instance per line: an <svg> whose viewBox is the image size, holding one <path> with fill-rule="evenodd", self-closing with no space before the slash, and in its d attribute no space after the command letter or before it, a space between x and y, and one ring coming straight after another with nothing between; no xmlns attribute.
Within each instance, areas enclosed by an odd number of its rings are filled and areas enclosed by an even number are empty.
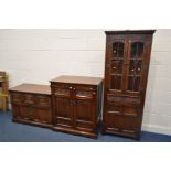
<svg viewBox="0 0 171 171"><path fill-rule="evenodd" d="M145 40L129 40L128 67L125 90L129 95L139 96L147 72L147 45Z"/></svg>

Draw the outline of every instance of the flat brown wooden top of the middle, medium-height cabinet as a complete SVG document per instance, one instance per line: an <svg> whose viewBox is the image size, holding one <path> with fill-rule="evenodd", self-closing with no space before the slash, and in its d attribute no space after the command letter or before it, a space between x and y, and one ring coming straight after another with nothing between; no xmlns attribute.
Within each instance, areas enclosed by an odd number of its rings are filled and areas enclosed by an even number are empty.
<svg viewBox="0 0 171 171"><path fill-rule="evenodd" d="M87 76L58 76L51 83L71 83L71 84L86 84L86 85L99 85L103 82L100 77L87 77Z"/></svg>

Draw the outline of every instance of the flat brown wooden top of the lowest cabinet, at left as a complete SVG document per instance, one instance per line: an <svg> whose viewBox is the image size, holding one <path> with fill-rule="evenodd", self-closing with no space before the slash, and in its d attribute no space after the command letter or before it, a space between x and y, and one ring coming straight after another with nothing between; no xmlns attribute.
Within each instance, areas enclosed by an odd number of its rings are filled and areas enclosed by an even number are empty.
<svg viewBox="0 0 171 171"><path fill-rule="evenodd" d="M50 86L47 86L47 85L39 85L39 84L21 84L19 86L10 88L10 92L21 92L21 93L51 95Z"/></svg>

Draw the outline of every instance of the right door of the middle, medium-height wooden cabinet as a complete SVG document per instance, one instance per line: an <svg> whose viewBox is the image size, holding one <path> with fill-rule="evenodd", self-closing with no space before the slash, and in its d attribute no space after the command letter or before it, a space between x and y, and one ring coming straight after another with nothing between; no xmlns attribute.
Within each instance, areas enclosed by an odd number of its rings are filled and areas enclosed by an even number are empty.
<svg viewBox="0 0 171 171"><path fill-rule="evenodd" d="M74 127L93 129L96 127L96 93L88 90L75 92Z"/></svg>

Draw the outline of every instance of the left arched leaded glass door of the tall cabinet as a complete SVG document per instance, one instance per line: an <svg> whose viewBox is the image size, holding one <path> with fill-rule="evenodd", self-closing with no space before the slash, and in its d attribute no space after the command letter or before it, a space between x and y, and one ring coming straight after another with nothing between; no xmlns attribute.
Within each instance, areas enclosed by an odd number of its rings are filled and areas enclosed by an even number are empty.
<svg viewBox="0 0 171 171"><path fill-rule="evenodd" d="M106 88L108 93L121 94L124 89L125 61L127 56L126 39L113 39L106 47Z"/></svg>

